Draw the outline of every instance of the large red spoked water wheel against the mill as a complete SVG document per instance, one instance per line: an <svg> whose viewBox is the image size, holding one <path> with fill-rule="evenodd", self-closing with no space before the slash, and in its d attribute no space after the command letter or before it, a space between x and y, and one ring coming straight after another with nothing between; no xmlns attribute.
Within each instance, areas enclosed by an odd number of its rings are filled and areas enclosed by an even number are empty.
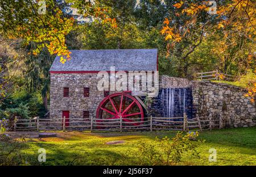
<svg viewBox="0 0 256 177"><path fill-rule="evenodd" d="M143 121L143 108L136 98L123 92L106 96L97 108L96 119L119 119L120 117L123 124L129 122L125 125L139 125L131 122Z"/></svg>

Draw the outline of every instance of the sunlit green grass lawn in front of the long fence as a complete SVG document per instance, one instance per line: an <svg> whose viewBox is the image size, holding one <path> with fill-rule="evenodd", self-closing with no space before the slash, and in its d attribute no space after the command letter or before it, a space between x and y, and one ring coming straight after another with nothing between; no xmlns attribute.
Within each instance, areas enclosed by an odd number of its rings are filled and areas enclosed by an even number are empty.
<svg viewBox="0 0 256 177"><path fill-rule="evenodd" d="M175 133L59 133L55 138L28 138L21 153L27 157L28 165L39 165L38 149L42 147L47 159L40 165L134 165L137 157L129 152L137 149L138 141L173 137ZM197 138L206 140L198 147L200 159L184 155L177 165L256 165L256 127L206 131ZM114 140L125 143L105 144ZM212 147L217 150L217 162L208 161Z"/></svg>

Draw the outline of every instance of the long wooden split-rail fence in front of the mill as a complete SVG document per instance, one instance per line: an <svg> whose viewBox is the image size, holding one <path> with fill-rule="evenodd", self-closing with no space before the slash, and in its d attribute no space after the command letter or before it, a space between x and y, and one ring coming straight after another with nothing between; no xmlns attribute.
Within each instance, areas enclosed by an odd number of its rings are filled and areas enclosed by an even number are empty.
<svg viewBox="0 0 256 177"><path fill-rule="evenodd" d="M203 131L213 128L222 128L221 115L219 119L212 119L212 115L198 116L188 119L184 113L183 117L144 117L135 119L79 119L63 118L57 119L17 119L15 117L13 126L9 130L14 131L47 131L47 130L79 130L90 132L112 131L112 132L134 132L134 131L156 131L156 130L180 130L180 131Z"/></svg>

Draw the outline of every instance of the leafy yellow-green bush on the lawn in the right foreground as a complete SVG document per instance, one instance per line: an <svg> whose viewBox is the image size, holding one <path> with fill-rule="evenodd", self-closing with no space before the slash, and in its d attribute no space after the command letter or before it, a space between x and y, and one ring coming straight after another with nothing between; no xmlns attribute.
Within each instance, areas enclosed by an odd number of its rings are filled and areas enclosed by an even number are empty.
<svg viewBox="0 0 256 177"><path fill-rule="evenodd" d="M139 142L138 150L135 151L135 156L139 159L138 165L175 165L181 161L185 154L190 154L195 158L200 158L197 147L204 141L192 141L191 137L195 135L178 132L175 137L164 137L155 141Z"/></svg>

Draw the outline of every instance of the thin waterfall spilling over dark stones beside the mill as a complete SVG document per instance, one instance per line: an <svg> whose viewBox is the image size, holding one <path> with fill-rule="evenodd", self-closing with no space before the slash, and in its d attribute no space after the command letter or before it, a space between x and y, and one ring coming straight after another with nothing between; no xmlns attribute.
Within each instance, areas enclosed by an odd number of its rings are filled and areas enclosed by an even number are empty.
<svg viewBox="0 0 256 177"><path fill-rule="evenodd" d="M186 88L165 88L161 93L162 114L164 117L183 116L186 107Z"/></svg>

